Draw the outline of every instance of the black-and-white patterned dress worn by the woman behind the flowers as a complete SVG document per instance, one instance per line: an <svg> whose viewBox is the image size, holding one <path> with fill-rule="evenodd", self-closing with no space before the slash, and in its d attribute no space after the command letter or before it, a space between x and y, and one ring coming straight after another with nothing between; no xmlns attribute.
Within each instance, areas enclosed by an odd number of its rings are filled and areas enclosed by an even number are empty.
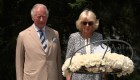
<svg viewBox="0 0 140 80"><path fill-rule="evenodd" d="M90 42L95 42L102 39L103 39L102 34L94 32L90 38ZM90 45L90 52L94 53L94 47L98 46L99 44L100 43ZM74 52L84 45L85 39L81 36L80 32L72 33L68 41L66 59L72 57L75 54ZM86 50L85 48L82 48L78 52L81 54L85 54ZM100 80L100 75L73 73L72 80Z"/></svg>

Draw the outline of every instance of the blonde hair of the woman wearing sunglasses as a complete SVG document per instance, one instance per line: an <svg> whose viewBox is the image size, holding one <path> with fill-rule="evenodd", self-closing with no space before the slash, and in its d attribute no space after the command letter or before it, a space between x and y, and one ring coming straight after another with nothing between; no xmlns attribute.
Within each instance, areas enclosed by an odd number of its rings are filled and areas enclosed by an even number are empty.
<svg viewBox="0 0 140 80"><path fill-rule="evenodd" d="M85 9L83 12L81 12L78 20L76 21L76 28L79 31L81 31L81 26L82 26L81 22L83 22L85 20L90 20L90 21L94 22L92 27L94 27L95 30L98 28L99 19L96 19L95 13L89 9Z"/></svg>

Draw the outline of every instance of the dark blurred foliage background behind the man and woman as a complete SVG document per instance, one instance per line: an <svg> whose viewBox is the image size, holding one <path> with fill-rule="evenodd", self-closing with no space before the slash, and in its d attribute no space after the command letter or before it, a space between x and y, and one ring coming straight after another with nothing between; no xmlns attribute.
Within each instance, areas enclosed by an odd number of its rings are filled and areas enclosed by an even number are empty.
<svg viewBox="0 0 140 80"><path fill-rule="evenodd" d="M59 31L62 61L65 60L68 37L77 31L75 21L83 9L89 8L100 20L97 31L104 39L120 39L133 46L135 71L116 80L140 79L139 0L0 0L0 80L16 80L16 38L32 24L30 9L35 3L43 3L49 9L48 25Z"/></svg>

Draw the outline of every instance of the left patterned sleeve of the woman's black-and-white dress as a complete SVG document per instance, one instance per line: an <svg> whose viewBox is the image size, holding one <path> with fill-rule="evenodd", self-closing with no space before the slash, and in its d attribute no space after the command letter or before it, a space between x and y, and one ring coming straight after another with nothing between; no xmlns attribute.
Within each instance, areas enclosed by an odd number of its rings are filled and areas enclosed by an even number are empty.
<svg viewBox="0 0 140 80"><path fill-rule="evenodd" d="M66 59L69 57L72 57L75 51L75 38L73 35L70 35L69 40L68 40L68 46L67 46L67 53L66 53Z"/></svg>

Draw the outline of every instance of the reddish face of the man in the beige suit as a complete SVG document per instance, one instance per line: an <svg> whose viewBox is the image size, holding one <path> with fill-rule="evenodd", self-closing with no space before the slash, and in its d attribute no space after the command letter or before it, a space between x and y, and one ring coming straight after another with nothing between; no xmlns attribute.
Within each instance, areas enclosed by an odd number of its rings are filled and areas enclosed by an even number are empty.
<svg viewBox="0 0 140 80"><path fill-rule="evenodd" d="M34 21L35 25L42 29L47 23L47 13L45 8L43 7L37 7L35 9L35 15L32 17L32 20Z"/></svg>

